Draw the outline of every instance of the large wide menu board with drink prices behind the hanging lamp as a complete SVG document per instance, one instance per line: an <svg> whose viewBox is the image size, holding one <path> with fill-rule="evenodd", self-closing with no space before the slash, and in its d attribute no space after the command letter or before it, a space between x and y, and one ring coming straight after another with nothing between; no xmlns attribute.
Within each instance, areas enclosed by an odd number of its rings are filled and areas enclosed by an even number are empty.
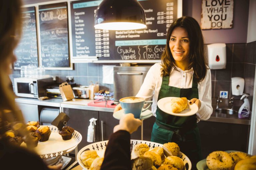
<svg viewBox="0 0 256 170"><path fill-rule="evenodd" d="M94 13L101 0L73 1L71 5L73 58L99 60L159 60L166 33L177 18L177 0L138 0L146 14L146 29L108 31L94 28Z"/></svg>

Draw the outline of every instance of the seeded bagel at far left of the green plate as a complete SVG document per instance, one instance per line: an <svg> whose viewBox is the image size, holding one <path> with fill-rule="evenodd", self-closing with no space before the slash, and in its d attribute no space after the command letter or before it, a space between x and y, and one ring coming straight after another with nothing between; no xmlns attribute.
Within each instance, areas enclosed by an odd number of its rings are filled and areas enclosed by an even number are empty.
<svg viewBox="0 0 256 170"><path fill-rule="evenodd" d="M214 151L206 158L206 164L210 170L232 170L233 160L229 153Z"/></svg>

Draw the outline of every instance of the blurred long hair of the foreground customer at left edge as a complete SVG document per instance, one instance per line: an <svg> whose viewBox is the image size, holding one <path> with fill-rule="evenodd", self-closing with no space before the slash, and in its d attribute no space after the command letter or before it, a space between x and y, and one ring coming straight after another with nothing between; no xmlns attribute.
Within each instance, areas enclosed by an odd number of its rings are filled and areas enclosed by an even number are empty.
<svg viewBox="0 0 256 170"><path fill-rule="evenodd" d="M21 37L21 5L21 0L0 1L0 135L5 132L5 121L23 123L23 116L15 105L14 93L6 83L9 75L4 70ZM6 113L5 110L10 110L11 113Z"/></svg>

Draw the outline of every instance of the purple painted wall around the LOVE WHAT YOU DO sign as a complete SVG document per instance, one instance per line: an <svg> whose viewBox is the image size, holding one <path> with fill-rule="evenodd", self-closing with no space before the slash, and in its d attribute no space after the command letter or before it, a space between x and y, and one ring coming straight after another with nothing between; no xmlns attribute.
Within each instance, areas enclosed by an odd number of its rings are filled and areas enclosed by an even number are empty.
<svg viewBox="0 0 256 170"><path fill-rule="evenodd" d="M195 18L201 24L202 0L183 0L183 16ZM246 43L249 15L249 0L234 0L233 28L203 30L206 44Z"/></svg>

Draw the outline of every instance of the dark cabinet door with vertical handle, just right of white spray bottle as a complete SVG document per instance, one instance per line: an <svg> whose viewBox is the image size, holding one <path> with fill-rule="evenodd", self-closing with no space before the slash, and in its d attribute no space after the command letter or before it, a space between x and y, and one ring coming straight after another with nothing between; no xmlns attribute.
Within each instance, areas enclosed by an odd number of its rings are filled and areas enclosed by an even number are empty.
<svg viewBox="0 0 256 170"><path fill-rule="evenodd" d="M99 112L99 120L100 141L108 140L109 136L113 133L114 127L119 124L119 120L113 117L112 112Z"/></svg>

